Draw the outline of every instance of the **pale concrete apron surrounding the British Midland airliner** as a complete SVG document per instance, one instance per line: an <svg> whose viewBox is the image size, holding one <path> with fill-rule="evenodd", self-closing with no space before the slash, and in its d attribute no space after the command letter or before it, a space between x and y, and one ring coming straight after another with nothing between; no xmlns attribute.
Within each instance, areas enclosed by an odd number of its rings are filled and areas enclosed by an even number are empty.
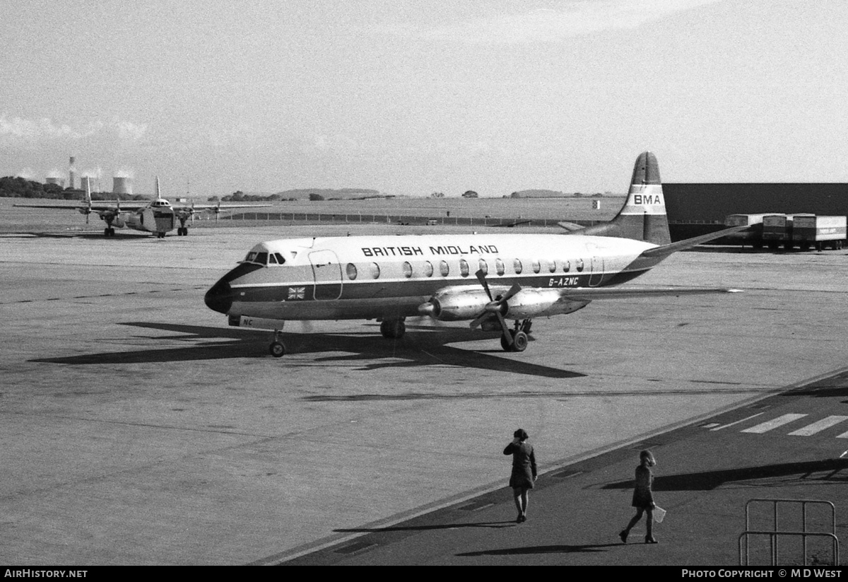
<svg viewBox="0 0 848 582"><path fill-rule="evenodd" d="M745 293L595 301L522 354L293 322L278 360L203 303L260 240L414 232L360 228L0 238L0 561L296 560L502 491L515 428L546 476L845 364L841 251L672 255L636 283Z"/></svg>

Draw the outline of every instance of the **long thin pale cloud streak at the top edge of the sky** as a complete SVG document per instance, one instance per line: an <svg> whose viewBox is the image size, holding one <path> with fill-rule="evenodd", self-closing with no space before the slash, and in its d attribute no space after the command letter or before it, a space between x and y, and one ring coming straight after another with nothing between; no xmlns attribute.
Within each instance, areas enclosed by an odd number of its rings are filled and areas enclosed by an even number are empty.
<svg viewBox="0 0 848 582"><path fill-rule="evenodd" d="M633 29L651 20L721 0L571 0L563 8L504 14L430 29L395 27L390 33L422 40L479 44L559 42L600 31Z"/></svg>

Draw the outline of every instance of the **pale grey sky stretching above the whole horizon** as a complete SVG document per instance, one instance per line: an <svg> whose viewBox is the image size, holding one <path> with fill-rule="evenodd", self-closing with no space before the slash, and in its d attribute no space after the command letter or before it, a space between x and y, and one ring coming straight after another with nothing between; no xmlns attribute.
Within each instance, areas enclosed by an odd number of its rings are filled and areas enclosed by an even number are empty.
<svg viewBox="0 0 848 582"><path fill-rule="evenodd" d="M844 0L26 0L0 176L164 194L848 182Z"/></svg>

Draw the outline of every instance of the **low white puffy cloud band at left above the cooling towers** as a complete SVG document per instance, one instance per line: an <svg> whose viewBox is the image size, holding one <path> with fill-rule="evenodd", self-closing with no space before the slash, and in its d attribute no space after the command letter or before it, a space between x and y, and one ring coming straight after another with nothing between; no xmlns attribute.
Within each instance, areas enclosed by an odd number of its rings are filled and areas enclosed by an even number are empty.
<svg viewBox="0 0 848 582"><path fill-rule="evenodd" d="M0 143L20 144L51 142L57 140L80 140L100 132L113 132L125 141L138 141L148 131L146 124L132 123L117 117L109 121L91 120L85 124L72 126L56 123L48 117L25 119L0 115Z"/></svg>

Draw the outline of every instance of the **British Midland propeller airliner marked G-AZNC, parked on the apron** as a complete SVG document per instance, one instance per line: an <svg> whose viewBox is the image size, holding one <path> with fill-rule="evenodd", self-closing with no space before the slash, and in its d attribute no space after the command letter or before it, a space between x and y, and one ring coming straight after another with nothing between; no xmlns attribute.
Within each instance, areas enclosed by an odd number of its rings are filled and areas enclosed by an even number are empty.
<svg viewBox="0 0 848 582"><path fill-rule="evenodd" d="M501 332L504 350L523 351L533 317L572 313L594 299L733 291L616 286L675 251L743 228L672 243L659 166L644 152L611 222L566 234L273 240L250 249L205 302L230 325L274 330L276 357L286 352L287 320L376 319L384 337L400 338L404 319L418 315L470 320L472 328Z"/></svg>

